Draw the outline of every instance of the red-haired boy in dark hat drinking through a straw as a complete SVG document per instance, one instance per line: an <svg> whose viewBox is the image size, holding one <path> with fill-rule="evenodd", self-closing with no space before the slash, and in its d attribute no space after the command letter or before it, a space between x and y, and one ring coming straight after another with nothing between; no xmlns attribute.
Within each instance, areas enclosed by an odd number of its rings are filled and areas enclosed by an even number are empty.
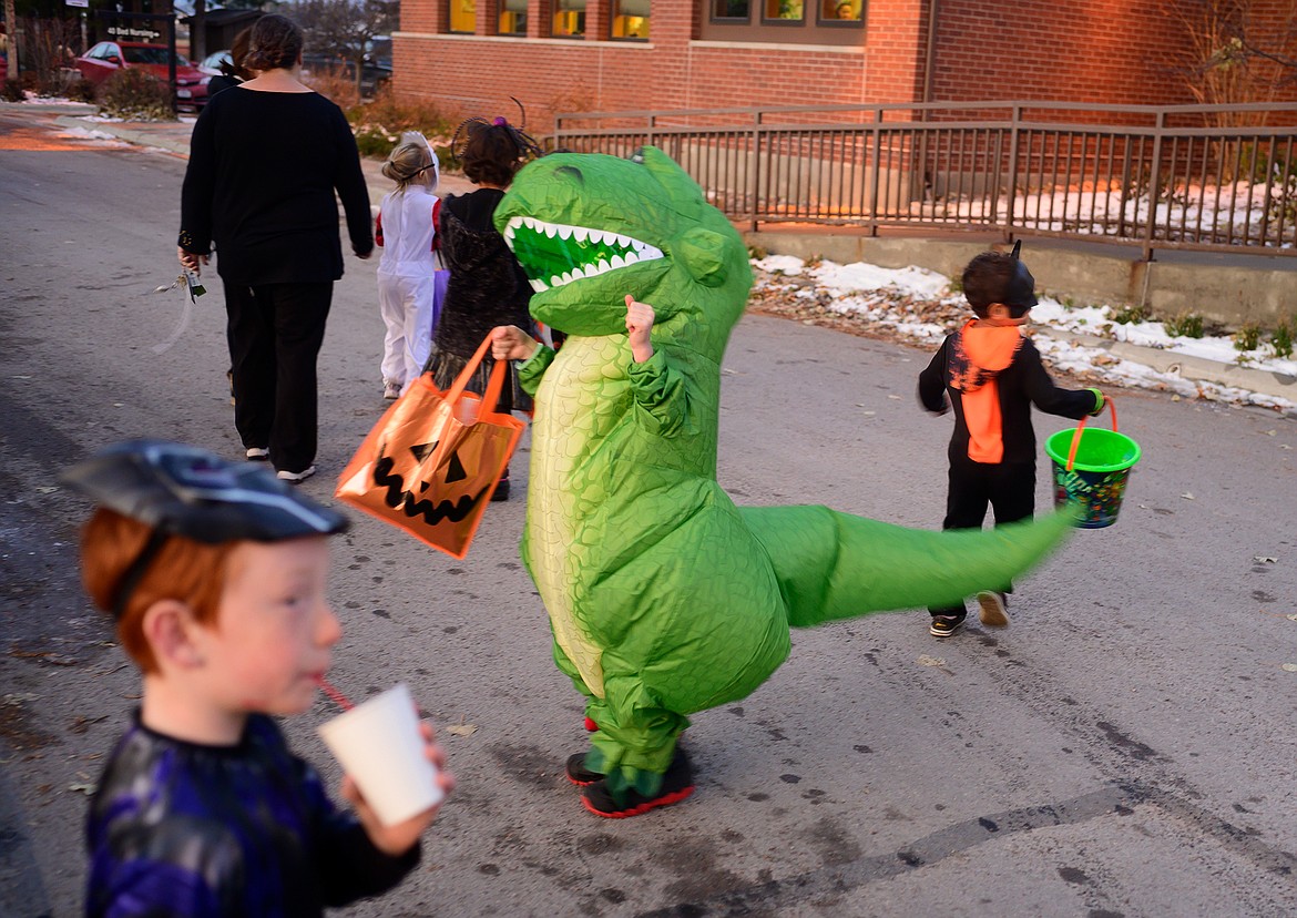
<svg viewBox="0 0 1297 918"><path fill-rule="evenodd" d="M162 441L64 481L100 504L83 578L144 683L91 803L86 914L322 915L399 883L440 805L383 826L345 778L354 813L339 810L272 720L311 705L342 634L324 587L346 519L254 464Z"/></svg>

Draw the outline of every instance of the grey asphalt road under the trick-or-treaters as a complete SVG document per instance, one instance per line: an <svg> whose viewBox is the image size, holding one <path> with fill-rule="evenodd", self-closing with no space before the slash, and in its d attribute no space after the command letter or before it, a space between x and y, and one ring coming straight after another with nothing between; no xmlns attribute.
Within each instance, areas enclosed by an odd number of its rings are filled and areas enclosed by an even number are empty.
<svg viewBox="0 0 1297 918"><path fill-rule="evenodd" d="M43 148L40 148L43 145ZM38 149L40 148L40 149ZM219 283L184 323L184 162L0 121L0 914L78 913L86 790L137 679L82 596L86 504L53 473L131 436L239 455ZM375 263L349 259L320 358L329 499L384 402ZM741 503L939 525L948 419L925 353L748 316L724 362ZM940 642L921 611L799 631L741 704L694 718L687 801L586 813L581 704L553 666L515 499L464 561L357 519L331 585L333 681L406 681L459 788L398 891L357 915L1297 913L1297 421L1115 393L1144 447L1117 525L1019 586L1014 622ZM1066 427L1038 419L1043 440ZM1040 506L1048 504L1044 475ZM1284 666L1288 665L1289 669ZM336 781L314 727L288 722ZM463 733L468 733L464 730Z"/></svg>

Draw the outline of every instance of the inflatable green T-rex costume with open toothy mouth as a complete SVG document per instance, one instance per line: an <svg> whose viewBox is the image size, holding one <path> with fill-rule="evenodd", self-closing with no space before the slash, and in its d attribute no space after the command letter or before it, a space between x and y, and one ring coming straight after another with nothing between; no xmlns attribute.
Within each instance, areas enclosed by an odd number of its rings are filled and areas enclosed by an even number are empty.
<svg viewBox="0 0 1297 918"><path fill-rule="evenodd" d="M729 220L660 150L538 159L495 226L533 279L532 315L568 335L520 367L536 395L521 554L555 661L599 726L586 768L613 796L656 794L686 714L761 685L790 626L958 603L1066 532L1062 515L938 533L735 507L716 484L720 362L752 272ZM625 294L656 312L643 363Z"/></svg>

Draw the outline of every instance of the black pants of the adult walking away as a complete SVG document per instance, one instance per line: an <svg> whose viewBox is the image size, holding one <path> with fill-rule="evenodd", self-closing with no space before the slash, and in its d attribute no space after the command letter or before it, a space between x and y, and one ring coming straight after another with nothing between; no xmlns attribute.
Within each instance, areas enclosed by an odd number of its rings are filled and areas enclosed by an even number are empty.
<svg viewBox="0 0 1297 918"><path fill-rule="evenodd" d="M315 462L315 362L333 301L333 283L226 283L235 428L244 447L270 450L276 469Z"/></svg>

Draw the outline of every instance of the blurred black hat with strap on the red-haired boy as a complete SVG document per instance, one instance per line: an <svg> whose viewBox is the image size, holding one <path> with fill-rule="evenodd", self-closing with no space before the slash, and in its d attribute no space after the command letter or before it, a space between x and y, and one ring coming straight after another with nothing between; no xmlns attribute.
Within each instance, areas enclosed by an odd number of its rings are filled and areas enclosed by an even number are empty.
<svg viewBox="0 0 1297 918"><path fill-rule="evenodd" d="M162 440L109 446L58 477L96 503L153 529L114 591L117 616L171 536L209 545L281 542L332 536L348 526L345 516L302 495L266 468Z"/></svg>

